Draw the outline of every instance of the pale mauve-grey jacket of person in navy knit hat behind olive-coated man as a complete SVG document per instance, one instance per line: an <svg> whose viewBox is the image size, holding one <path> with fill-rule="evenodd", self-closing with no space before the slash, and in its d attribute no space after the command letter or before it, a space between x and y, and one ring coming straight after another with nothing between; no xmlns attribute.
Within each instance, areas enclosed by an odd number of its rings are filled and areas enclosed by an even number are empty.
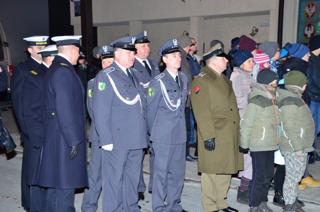
<svg viewBox="0 0 320 212"><path fill-rule="evenodd" d="M250 84L255 82L255 79L252 72L234 67L230 80L232 81L232 88L235 93L240 118L243 118L244 110L248 105L248 94L251 91Z"/></svg>

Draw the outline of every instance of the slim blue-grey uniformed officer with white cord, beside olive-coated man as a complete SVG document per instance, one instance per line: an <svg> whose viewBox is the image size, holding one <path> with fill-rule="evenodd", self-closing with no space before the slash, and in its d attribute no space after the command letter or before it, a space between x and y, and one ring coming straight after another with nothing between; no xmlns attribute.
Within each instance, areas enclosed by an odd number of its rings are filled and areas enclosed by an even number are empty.
<svg viewBox="0 0 320 212"><path fill-rule="evenodd" d="M181 56L177 39L165 42L158 55L166 68L151 79L146 97L147 128L154 151L152 211L180 212L185 211L178 202L185 170L187 77L178 71Z"/></svg>

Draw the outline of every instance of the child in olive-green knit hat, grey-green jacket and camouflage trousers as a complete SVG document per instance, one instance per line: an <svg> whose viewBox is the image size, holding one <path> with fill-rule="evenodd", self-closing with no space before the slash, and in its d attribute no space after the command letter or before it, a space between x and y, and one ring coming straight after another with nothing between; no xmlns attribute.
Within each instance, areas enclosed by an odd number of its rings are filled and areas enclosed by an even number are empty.
<svg viewBox="0 0 320 212"><path fill-rule="evenodd" d="M281 115L279 148L284 156L283 211L304 211L297 203L298 183L304 173L307 152L313 150L314 122L309 107L301 96L306 87L305 75L297 70L284 77L284 87L278 89L277 104Z"/></svg>

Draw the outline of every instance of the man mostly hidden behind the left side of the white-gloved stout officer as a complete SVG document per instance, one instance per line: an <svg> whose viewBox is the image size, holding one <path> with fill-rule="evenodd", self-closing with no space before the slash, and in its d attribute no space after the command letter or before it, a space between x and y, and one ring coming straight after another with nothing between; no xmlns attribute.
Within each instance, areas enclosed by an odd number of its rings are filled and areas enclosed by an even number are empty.
<svg viewBox="0 0 320 212"><path fill-rule="evenodd" d="M110 45L102 45L99 48L101 55L102 68L108 67L113 62L113 47ZM109 63L111 61L111 63ZM91 142L91 155L88 170L89 187L84 190L81 210L82 212L96 211L98 208L98 197L102 188L101 176L101 148L99 148L98 135L94 126L93 111L92 111L92 96L93 96L93 81L94 78L88 81L86 106L91 118L89 141Z"/></svg>

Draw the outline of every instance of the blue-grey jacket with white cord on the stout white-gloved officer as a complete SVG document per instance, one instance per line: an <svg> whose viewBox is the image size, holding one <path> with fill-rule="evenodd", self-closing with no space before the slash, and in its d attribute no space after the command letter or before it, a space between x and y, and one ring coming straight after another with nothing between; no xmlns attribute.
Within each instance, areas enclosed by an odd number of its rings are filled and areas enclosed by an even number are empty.
<svg viewBox="0 0 320 212"><path fill-rule="evenodd" d="M100 146L111 143L113 149L141 149L147 146L143 83L134 68L130 68L130 72L134 84L113 61L94 79L92 107Z"/></svg>

